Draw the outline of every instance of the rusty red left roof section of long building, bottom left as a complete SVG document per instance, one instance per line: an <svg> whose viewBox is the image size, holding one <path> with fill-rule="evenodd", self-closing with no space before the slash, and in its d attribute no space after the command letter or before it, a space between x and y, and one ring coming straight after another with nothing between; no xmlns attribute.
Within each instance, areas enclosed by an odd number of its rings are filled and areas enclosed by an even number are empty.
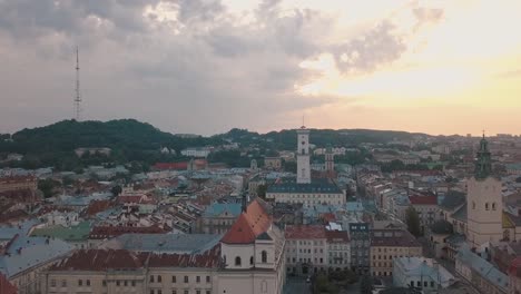
<svg viewBox="0 0 521 294"><path fill-rule="evenodd" d="M107 271L141 268L144 261L132 252L125 249L80 249L58 264L52 271Z"/></svg>

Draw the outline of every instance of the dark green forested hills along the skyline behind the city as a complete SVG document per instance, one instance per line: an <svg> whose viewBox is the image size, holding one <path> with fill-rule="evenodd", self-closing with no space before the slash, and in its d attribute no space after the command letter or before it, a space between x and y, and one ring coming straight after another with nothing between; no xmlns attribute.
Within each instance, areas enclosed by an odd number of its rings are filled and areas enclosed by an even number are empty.
<svg viewBox="0 0 521 294"><path fill-rule="evenodd" d="M326 145L356 147L361 143L410 140L416 135L422 134L365 129L312 129L311 143L318 147ZM235 128L212 137L181 137L161 131L149 124L135 119L107 122L63 120L46 127L20 130L11 138L9 135L0 135L0 161L7 154L17 153L24 155L23 160L9 165L23 168L53 166L59 170L72 170L88 165L126 164L129 161L148 166L157 161L186 159L163 155L159 153L161 147L174 149L179 154L186 147L217 147L227 141L238 143L242 147L256 146L258 147L257 151L248 156L262 158L276 154L277 150L293 150L296 148L296 136L294 129L258 134ZM78 158L73 150L80 147L108 147L112 153L108 158L102 156ZM239 157L240 153L230 153L228 157L232 156ZM217 156L209 159L218 160L219 158ZM244 159L244 163L249 161L249 159L246 160L247 158Z"/></svg>

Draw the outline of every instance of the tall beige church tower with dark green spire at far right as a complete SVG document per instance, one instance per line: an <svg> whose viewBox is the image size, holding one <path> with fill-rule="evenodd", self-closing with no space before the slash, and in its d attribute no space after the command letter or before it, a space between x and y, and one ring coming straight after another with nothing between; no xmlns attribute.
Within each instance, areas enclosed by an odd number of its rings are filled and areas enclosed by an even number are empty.
<svg viewBox="0 0 521 294"><path fill-rule="evenodd" d="M483 135L474 176L466 182L466 241L471 247L502 238L501 188L501 180L492 175L489 143Z"/></svg>

